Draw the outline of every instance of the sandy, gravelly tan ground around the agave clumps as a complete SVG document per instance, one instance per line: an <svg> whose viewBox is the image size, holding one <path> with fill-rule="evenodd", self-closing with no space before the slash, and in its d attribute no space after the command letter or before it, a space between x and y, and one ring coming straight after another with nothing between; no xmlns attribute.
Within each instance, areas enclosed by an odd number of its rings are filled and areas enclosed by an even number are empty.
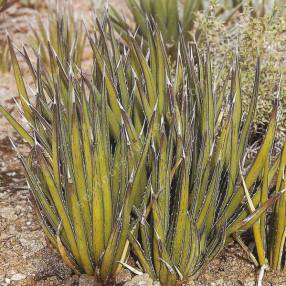
<svg viewBox="0 0 286 286"><path fill-rule="evenodd" d="M75 6L79 7L79 4ZM80 10L81 13L87 11L81 4ZM24 13L15 20L18 21L17 28L11 25L9 31L19 45L27 38L28 23L34 22L37 12L26 9ZM45 10L40 13L44 15ZM0 78L0 104L15 110L13 98L17 97L17 91L13 75L0 74ZM66 268L45 240L31 206L23 169L9 137L21 152L27 152L27 147L0 116L0 286L93 285L90 277L78 277ZM231 244L187 285L251 286L256 285L257 277L258 269L238 245ZM146 275L132 277L124 271L119 275L117 284L147 286L152 285L152 281ZM286 285L286 276L267 272L263 285Z"/></svg>

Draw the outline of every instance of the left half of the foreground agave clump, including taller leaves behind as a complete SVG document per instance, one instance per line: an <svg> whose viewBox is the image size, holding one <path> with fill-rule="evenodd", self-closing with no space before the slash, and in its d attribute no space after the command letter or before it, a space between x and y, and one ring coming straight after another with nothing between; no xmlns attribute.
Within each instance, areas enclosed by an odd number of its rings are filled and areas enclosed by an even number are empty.
<svg viewBox="0 0 286 286"><path fill-rule="evenodd" d="M98 28L103 31L99 23ZM96 59L92 79L68 73L51 45L51 74L40 55L33 65L24 51L35 80L33 99L9 40L21 113L30 130L0 107L31 146L28 159L19 157L45 233L75 272L94 274L105 283L129 254L131 211L134 205L140 209L145 193L146 160L155 128L151 119L141 127L140 137L133 130L134 75L130 64L125 65L128 55L120 58L110 36L109 51L105 34L89 36Z"/></svg>

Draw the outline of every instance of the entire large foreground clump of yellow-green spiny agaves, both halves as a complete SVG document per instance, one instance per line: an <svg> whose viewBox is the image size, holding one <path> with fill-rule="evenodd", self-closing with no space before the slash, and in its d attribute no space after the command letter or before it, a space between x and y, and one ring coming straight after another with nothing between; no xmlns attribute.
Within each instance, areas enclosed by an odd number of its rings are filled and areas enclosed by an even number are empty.
<svg viewBox="0 0 286 286"><path fill-rule="evenodd" d="M50 72L40 55L33 65L23 53L36 87L33 99L10 42L30 130L4 107L0 111L31 146L28 158L19 156L35 208L69 267L109 283L128 263L131 244L144 272L162 285L176 285L281 195L258 206L261 190L255 190L257 209L250 216L242 204L239 164L255 113L259 61L242 120L238 59L220 86L209 53L183 40L173 70L156 26L148 29L148 55L133 36L126 46L118 43L108 19L97 22L88 39L94 54L91 78L65 68L65 58L50 43ZM75 58L68 64L72 67ZM247 188L255 185L268 158L276 112L249 166Z"/></svg>

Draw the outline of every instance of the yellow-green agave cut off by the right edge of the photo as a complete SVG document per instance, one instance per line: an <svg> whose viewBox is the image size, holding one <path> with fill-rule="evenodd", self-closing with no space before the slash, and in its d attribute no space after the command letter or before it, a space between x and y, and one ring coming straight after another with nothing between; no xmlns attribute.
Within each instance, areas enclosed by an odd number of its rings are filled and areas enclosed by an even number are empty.
<svg viewBox="0 0 286 286"><path fill-rule="evenodd" d="M272 193L283 193L281 199L274 205L271 211L263 214L252 226L256 257L253 256L256 266L263 268L270 267L275 271L285 269L285 166L286 166L286 145L278 158L271 164L271 156L265 161L263 170L260 173L256 188L261 190L260 197L256 201L263 204ZM271 170L271 171L270 171ZM245 193L250 212L255 211L254 202L249 195L249 189L245 186Z"/></svg>

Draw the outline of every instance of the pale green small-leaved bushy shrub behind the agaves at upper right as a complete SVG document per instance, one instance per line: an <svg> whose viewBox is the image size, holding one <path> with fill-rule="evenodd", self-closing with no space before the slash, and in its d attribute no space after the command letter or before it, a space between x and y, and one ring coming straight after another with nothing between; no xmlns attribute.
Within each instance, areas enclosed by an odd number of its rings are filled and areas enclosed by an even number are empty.
<svg viewBox="0 0 286 286"><path fill-rule="evenodd" d="M278 91L281 74L285 74L285 40L286 22L283 10L277 10L273 15L253 17L252 8L245 8L237 21L224 25L215 17L214 6L211 14L200 13L197 16L196 26L202 30L199 45L207 43L214 55L214 69L221 69L231 64L232 55L238 48L240 66L242 70L242 99L243 110L247 110L251 101L253 75L249 73L255 67L256 56L261 59L261 77L257 112L254 117L254 128L262 134L272 109ZM227 68L225 73L227 73ZM278 137L280 142L286 135L286 97L284 87L279 98L280 116L278 117ZM259 135L260 137L260 135Z"/></svg>

